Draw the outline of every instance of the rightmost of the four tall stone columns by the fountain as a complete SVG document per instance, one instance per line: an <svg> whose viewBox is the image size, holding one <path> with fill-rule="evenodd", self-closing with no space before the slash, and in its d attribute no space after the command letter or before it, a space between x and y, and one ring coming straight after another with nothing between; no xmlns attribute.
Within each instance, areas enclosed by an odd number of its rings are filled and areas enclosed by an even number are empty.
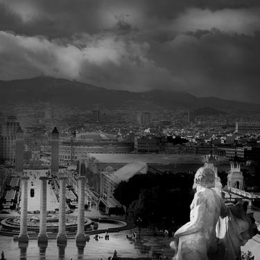
<svg viewBox="0 0 260 260"><path fill-rule="evenodd" d="M85 243L85 176L78 176L78 232L76 243Z"/></svg>

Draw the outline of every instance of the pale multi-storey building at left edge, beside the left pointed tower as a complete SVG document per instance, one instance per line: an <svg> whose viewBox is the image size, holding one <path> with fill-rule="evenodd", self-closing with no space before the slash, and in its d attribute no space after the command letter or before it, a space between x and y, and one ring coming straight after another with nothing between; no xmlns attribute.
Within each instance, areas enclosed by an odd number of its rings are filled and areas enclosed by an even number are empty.
<svg viewBox="0 0 260 260"><path fill-rule="evenodd" d="M15 139L20 124L16 116L7 116L1 123L0 158L15 161Z"/></svg>

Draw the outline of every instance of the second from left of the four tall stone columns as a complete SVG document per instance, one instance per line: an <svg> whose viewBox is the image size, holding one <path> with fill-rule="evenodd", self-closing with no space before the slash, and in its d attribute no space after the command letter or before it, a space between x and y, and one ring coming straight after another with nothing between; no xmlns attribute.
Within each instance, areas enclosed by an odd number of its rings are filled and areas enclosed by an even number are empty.
<svg viewBox="0 0 260 260"><path fill-rule="evenodd" d="M38 235L39 243L48 243L48 237L46 234L46 217L47 217L47 180L48 177L42 176L41 180L41 198L40 198L40 232Z"/></svg>

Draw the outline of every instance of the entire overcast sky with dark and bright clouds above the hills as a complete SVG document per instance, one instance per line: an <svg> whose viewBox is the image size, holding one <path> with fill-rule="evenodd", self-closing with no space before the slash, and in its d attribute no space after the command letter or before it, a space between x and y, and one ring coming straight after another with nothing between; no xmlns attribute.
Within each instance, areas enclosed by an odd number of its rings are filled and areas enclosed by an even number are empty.
<svg viewBox="0 0 260 260"><path fill-rule="evenodd" d="M0 0L0 79L40 75L260 103L260 1Z"/></svg>

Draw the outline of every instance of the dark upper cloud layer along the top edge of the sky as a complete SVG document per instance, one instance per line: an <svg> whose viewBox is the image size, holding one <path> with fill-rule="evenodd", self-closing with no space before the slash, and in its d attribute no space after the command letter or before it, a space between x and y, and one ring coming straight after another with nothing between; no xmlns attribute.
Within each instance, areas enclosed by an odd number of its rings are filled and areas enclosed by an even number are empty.
<svg viewBox="0 0 260 260"><path fill-rule="evenodd" d="M259 0L0 0L0 30L26 35L68 37L114 26L146 26L175 19L189 8L212 11L259 7ZM116 17L127 17L122 24Z"/></svg>

